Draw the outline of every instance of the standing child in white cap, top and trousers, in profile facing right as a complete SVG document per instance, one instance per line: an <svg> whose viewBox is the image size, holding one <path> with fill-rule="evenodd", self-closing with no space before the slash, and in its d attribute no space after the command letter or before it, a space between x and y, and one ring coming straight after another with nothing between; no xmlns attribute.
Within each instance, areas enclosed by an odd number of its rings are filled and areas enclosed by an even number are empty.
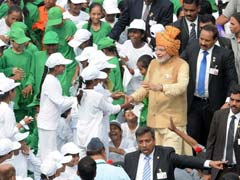
<svg viewBox="0 0 240 180"><path fill-rule="evenodd" d="M40 111L37 120L38 148L42 161L50 152L57 150L56 129L60 116L76 101L74 97L62 95L62 87L57 79L57 76L65 70L65 65L71 62L71 60L65 59L61 53L53 53L48 57L45 64L49 68L49 73L42 85Z"/></svg>

